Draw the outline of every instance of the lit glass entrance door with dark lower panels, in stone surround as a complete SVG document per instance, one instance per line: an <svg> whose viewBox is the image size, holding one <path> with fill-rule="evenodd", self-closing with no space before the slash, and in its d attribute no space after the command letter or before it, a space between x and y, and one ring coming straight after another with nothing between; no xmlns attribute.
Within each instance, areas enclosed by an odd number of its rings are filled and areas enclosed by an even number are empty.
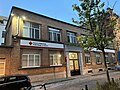
<svg viewBox="0 0 120 90"><path fill-rule="evenodd" d="M77 53L69 53L71 76L80 75L80 67Z"/></svg>

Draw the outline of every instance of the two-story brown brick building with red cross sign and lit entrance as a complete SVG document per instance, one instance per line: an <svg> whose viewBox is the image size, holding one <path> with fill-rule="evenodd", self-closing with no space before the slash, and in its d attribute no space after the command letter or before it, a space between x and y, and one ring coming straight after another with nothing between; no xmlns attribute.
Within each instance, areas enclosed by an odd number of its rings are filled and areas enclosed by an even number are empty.
<svg viewBox="0 0 120 90"><path fill-rule="evenodd" d="M12 7L0 48L2 74L39 81L104 71L101 51L84 52L78 44L76 37L85 34L82 27ZM115 50L106 49L106 58L114 64Z"/></svg>

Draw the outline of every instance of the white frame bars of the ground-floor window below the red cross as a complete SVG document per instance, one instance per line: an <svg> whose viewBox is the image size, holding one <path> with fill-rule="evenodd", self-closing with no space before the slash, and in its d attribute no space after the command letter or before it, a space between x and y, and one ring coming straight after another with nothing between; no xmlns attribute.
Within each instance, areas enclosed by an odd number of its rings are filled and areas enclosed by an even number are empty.
<svg viewBox="0 0 120 90"><path fill-rule="evenodd" d="M23 58L23 56L24 55L26 55L27 56L27 66L22 66L22 68L27 68L27 67L40 67L40 64L41 64L41 57L40 57L40 54L22 54L22 58ZM33 66L30 66L29 65L29 61L30 61L30 59L29 59L29 57L30 57L30 55L33 55L34 56L34 65ZM39 65L35 65L35 56L39 56ZM22 59L22 61L23 61L23 59Z"/></svg>

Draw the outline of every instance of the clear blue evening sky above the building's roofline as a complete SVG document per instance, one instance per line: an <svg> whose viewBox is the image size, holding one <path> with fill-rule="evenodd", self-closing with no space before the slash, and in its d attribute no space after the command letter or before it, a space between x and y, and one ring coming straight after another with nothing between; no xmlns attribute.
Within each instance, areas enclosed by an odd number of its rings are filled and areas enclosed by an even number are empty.
<svg viewBox="0 0 120 90"><path fill-rule="evenodd" d="M101 1L105 2L105 8L114 6L114 12L120 16L120 0ZM77 14L72 9L73 4L79 4L79 0L0 0L0 16L8 17L12 6L16 6L72 23L72 18L77 18Z"/></svg>

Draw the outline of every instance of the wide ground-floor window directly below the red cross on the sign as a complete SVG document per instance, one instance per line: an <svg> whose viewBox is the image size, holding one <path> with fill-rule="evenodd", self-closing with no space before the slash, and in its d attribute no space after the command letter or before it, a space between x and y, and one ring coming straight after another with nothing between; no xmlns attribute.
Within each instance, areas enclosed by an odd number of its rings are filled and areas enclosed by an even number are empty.
<svg viewBox="0 0 120 90"><path fill-rule="evenodd" d="M40 50L22 50L22 67L38 67L40 61Z"/></svg>

